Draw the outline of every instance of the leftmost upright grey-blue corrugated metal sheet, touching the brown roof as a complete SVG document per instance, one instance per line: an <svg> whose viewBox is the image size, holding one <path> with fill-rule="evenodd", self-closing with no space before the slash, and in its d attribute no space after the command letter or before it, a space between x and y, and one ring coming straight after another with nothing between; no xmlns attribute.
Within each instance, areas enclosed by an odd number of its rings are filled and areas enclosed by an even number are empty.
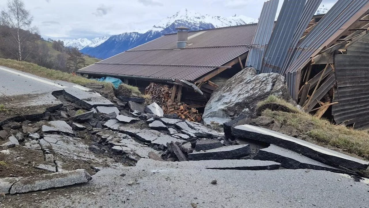
<svg viewBox="0 0 369 208"><path fill-rule="evenodd" d="M265 47L272 35L278 3L279 0L270 0L264 3L258 27L256 28L256 34L252 41L252 44L255 44L255 46L251 46L246 61L246 66L248 67L254 67L256 70L261 69Z"/></svg>

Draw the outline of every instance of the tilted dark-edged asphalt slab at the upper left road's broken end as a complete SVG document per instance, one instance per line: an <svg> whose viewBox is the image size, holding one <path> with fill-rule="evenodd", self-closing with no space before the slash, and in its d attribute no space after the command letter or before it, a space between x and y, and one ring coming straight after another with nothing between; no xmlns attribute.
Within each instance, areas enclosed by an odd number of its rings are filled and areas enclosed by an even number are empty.
<svg viewBox="0 0 369 208"><path fill-rule="evenodd" d="M65 88L63 90L63 94L68 100L85 106L88 109L97 106L114 106L110 100L104 98L98 93L81 91L73 87Z"/></svg>

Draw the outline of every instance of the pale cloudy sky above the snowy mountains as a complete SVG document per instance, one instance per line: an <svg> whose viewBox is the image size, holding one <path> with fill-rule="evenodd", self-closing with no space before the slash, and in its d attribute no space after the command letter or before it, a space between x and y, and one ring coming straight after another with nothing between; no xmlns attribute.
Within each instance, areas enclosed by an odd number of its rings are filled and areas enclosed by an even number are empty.
<svg viewBox="0 0 369 208"><path fill-rule="evenodd" d="M7 0L0 0L0 10ZM183 8L230 17L258 19L265 0L23 0L42 37L88 38L147 31L155 23ZM323 0L327 8L337 0ZM279 7L283 0L280 0Z"/></svg>

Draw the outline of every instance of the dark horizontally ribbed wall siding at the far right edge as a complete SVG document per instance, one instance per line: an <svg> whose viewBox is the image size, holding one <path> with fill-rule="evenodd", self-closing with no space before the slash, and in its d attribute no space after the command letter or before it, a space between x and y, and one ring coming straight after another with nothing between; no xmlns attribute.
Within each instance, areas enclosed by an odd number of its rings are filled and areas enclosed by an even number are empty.
<svg viewBox="0 0 369 208"><path fill-rule="evenodd" d="M337 88L334 91L332 115L336 123L369 127L369 35L335 55Z"/></svg>

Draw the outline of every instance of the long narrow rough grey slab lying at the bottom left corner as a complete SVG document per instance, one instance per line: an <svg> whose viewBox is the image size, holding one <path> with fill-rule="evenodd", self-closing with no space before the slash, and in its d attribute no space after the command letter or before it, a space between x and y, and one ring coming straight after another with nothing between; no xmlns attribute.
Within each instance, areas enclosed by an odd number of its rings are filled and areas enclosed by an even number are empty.
<svg viewBox="0 0 369 208"><path fill-rule="evenodd" d="M21 178L10 189L10 194L26 193L49 188L64 187L88 182L92 179L84 169L62 171L51 174L33 175Z"/></svg>

